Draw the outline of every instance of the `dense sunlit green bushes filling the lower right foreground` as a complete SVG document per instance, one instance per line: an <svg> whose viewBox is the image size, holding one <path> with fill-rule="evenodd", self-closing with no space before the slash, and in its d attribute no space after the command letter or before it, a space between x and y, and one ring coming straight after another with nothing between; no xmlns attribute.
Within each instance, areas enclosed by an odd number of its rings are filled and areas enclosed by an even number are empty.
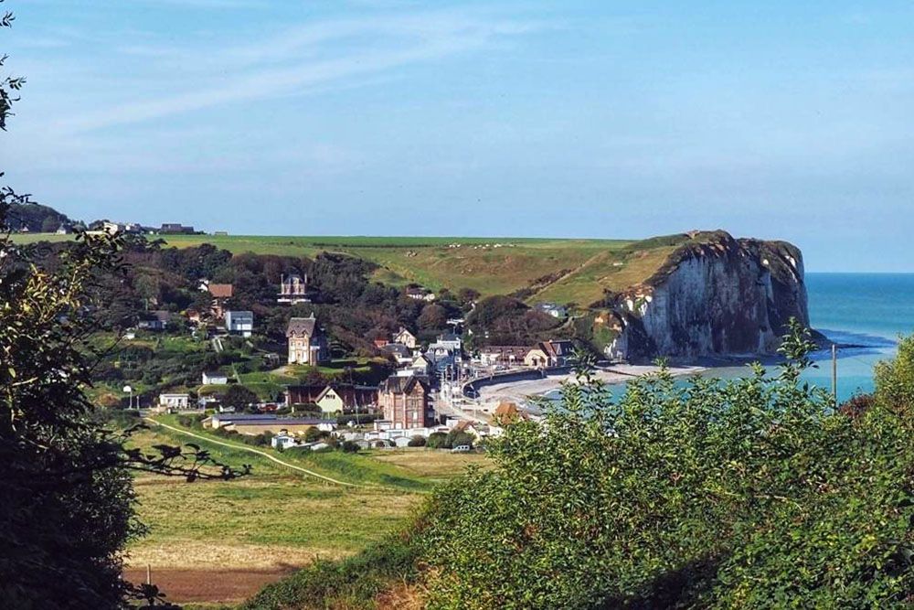
<svg viewBox="0 0 914 610"><path fill-rule="evenodd" d="M498 467L442 487L423 521L435 608L843 607L912 603L914 340L857 417L800 381L587 371Z"/></svg>

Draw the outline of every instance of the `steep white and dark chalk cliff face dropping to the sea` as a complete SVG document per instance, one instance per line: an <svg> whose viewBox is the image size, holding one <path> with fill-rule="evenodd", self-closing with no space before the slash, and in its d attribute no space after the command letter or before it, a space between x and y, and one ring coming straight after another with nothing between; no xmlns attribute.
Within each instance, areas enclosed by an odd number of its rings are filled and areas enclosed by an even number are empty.
<svg viewBox="0 0 914 610"><path fill-rule="evenodd" d="M723 231L691 237L650 279L615 296L609 356L771 354L791 317L809 325L796 246Z"/></svg>

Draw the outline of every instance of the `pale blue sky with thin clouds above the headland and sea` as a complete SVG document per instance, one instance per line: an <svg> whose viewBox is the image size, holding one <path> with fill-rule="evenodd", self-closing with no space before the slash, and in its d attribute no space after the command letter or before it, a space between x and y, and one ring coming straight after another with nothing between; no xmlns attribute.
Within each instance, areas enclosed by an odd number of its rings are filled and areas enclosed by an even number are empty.
<svg viewBox="0 0 914 610"><path fill-rule="evenodd" d="M7 0L0 170L76 219L782 239L914 272L914 3Z"/></svg>

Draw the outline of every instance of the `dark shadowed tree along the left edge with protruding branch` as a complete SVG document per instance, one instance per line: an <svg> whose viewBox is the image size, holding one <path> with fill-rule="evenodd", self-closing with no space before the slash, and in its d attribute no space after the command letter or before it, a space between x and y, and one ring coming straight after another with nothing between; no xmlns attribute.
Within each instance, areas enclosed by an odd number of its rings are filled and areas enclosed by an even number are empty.
<svg viewBox="0 0 914 610"><path fill-rule="evenodd" d="M0 17L0 27L12 23ZM0 80L0 129L24 82ZM124 547L143 534L130 471L188 480L243 471L197 445L128 448L142 424L119 429L90 403L83 388L104 355L88 341L97 328L92 288L120 272L121 242L83 234L40 266L37 248L9 238L10 210L30 205L0 187L0 600L9 608L123 607L132 593L121 579Z"/></svg>

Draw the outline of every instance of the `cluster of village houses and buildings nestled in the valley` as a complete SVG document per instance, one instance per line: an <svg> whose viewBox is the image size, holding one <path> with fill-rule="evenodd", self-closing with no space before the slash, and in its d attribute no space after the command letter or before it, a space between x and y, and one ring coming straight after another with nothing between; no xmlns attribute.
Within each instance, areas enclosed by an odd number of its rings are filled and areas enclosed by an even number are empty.
<svg viewBox="0 0 914 610"><path fill-rule="evenodd" d="M208 311L187 309L183 313L192 334L206 331L216 351L227 337L248 339L257 334L253 311L228 307L232 284L204 280L199 289L209 295L211 306ZM434 293L414 286L404 292L410 299L423 302L436 298ZM278 305L303 305L311 303L312 296L306 274L285 273L275 301ZM538 309L559 319L568 315L561 305L543 304ZM173 317L172 312L150 312L126 338L135 338L138 331L164 332ZM314 314L289 318L286 353L268 355L276 363L278 374L331 360L323 323ZM481 385L542 379L569 370L574 351L570 340L486 346L471 353L461 336L464 320L453 318L448 324L453 332L442 333L424 345L406 327L388 337L374 338L375 347L393 369L377 385L336 381L287 384L279 400L228 405L222 397L239 380L228 372L230 367L224 367L199 371L197 391L161 392L150 411L194 415L196 419L183 421L242 438L269 438L281 451L429 446L468 452L486 438L503 433L505 423L530 417L523 404L515 401L480 401Z"/></svg>

